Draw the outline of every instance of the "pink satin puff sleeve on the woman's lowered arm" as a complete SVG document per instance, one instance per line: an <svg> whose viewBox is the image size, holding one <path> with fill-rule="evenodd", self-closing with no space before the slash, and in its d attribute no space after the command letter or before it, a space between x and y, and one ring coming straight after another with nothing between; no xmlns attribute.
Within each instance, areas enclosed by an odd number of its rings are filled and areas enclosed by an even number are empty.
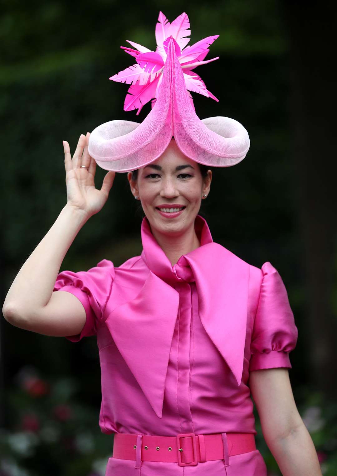
<svg viewBox="0 0 337 476"><path fill-rule="evenodd" d="M249 371L289 367L289 352L296 347L298 331L286 287L268 261L262 266L262 283L257 306Z"/></svg>

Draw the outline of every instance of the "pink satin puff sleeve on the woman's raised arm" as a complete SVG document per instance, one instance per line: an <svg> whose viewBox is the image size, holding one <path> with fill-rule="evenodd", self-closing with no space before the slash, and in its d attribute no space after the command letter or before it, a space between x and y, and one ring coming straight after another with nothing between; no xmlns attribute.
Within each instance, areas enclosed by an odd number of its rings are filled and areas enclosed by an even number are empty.
<svg viewBox="0 0 337 476"><path fill-rule="evenodd" d="M114 279L114 267L111 261L103 259L88 271L61 271L58 274L54 291L67 291L76 296L85 309L86 321L82 332L66 337L78 342L82 337L97 333L97 321L102 320Z"/></svg>

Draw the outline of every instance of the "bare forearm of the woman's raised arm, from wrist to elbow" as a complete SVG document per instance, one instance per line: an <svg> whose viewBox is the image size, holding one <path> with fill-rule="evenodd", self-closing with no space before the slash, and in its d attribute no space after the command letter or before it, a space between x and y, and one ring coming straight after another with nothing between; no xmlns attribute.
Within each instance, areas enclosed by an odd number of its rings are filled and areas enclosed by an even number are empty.
<svg viewBox="0 0 337 476"><path fill-rule="evenodd" d="M3 313L8 320L29 317L49 302L63 258L87 220L84 213L68 205L62 208L7 293Z"/></svg>

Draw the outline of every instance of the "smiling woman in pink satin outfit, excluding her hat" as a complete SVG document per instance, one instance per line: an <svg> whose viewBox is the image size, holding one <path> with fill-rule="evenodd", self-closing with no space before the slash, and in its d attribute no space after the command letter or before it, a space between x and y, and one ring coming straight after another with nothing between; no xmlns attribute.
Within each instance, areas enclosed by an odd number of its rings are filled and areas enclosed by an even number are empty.
<svg viewBox="0 0 337 476"><path fill-rule="evenodd" d="M320 475L316 451L298 414L286 368L291 367L287 356L288 351L295 347L297 336L286 291L276 269L265 263L261 273L261 270L247 265L256 283L250 285L248 293L251 316L247 321L246 358L239 387L229 365L225 363L224 357L228 356L221 354L221 351L225 353L225 349L220 348L219 352L215 347L219 342L221 344L221 339L226 338L224 332L228 335L230 329L220 321L217 324L222 327L207 327L212 323L200 322L199 313L193 309L198 307L198 296L186 258L194 259L201 266L202 260L198 259L197 253L205 253L205 270L211 266L207 278L212 278L213 273L216 278L218 268L224 263L237 270L241 261L225 248L224 257L216 253L214 262L209 261L214 253L212 248L207 250L213 244L212 238L206 222L197 214L201 200L210 191L211 170L202 173L199 164L184 157L172 139L169 148L153 162L152 167L138 170L136 178L132 172L128 173L131 191L141 200L146 216L142 224L143 258L131 258L120 268L113 268L111 261L102 260L88 272L63 271L58 275L73 239L106 202L115 176L115 172L108 172L101 190L95 188L96 162L88 154L84 136L80 137L72 160L68 142L64 142L64 151L67 205L15 278L6 297L4 316L15 326L48 336L68 336L73 342L97 334L102 369L100 426L102 432L107 434L130 434L127 449L133 456L133 459L123 459L128 455L122 455L123 447L118 448L119 453L109 458L106 475L266 474L260 453L253 449L256 431L249 388L266 443L282 474ZM163 206L165 210L182 208L182 211L162 212L160 208ZM216 247L220 248L220 245ZM180 265L177 266L177 263ZM239 268L239 272L244 268ZM149 282L149 269L151 279L155 280L157 275L161 278L160 286ZM202 278L198 276L197 279ZM235 286L241 286L241 289L235 289L231 303L239 308L237 299L245 299L246 289L242 288L246 283L241 276L235 277L235 268L231 268L227 278L228 282L221 283L226 299L230 297L226 286L233 285L233 282ZM265 287L262 289L265 297L264 302L256 306L259 290L254 287L259 280ZM212 283L212 286L215 284ZM149 288L148 295L140 292L144 285ZM126 294L124 287L128 288ZM184 306L184 309L179 309L177 320L174 289L179 290L180 306ZM153 294L153 291L158 294ZM124 292L122 297L121 292ZM188 307L191 297L192 304ZM143 301L139 302L140 299ZM274 302L268 302L268 299ZM209 306L211 304L208 303ZM228 310L227 304L220 318L224 318ZM235 308L230 311L233 319L243 317ZM276 313L282 322L273 321ZM108 320L106 316L109 316ZM253 316L260 319L260 322L255 321L255 326L250 322ZM154 322L153 317L158 320ZM210 338L207 338L203 325ZM259 329L261 326L264 326L266 333L264 337ZM277 335L276 327L279 328ZM241 337L237 332L235 328L230 335L234 343ZM158 339L160 343L156 342ZM238 352L235 346L231 348ZM251 352L253 355L249 362ZM164 398L163 384L167 394ZM148 437L147 445L142 444L144 436L137 436L142 433L154 439ZM223 458L214 456L213 459L210 456L210 460L202 459L201 437L198 436L198 446L195 446L197 465L193 468L179 466L179 463L193 463L194 460L194 438L185 436L180 438L180 447L183 448L181 461L170 461L171 455L177 456L177 453L173 454L172 435L179 433L204 435L204 457L205 448L212 452L214 445L219 449L220 440L210 442L210 446L207 442L205 444L207 436L221 434L221 437L224 436ZM153 435L169 438L165 441L165 438L155 439ZM246 443L242 440L242 448L247 445L248 451L241 452L240 443L235 440L235 436L240 435L253 436ZM115 436L114 452L116 440ZM148 446L148 449L142 449L144 459L136 461L137 448L133 446L141 445L142 448ZM235 445L238 446L237 454ZM159 450L155 449L157 447ZM170 447L172 450L168 449ZM153 461L145 460L146 451L154 452Z"/></svg>

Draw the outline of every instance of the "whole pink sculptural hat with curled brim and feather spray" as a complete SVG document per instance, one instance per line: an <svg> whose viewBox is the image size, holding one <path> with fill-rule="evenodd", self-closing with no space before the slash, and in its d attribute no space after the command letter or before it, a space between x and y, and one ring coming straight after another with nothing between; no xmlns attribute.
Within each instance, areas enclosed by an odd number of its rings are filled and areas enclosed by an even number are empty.
<svg viewBox="0 0 337 476"><path fill-rule="evenodd" d="M200 119L195 113L189 91L218 101L193 70L218 59L204 61L219 35L186 46L189 27L186 13L170 24L160 12L156 51L131 41L135 50L121 47L137 61L110 78L131 84L124 110L138 109L138 115L150 100L152 109L141 123L115 119L92 131L88 151L102 169L128 172L145 167L163 154L173 137L183 154L200 164L230 167L245 158L249 136L244 126L223 116Z"/></svg>

